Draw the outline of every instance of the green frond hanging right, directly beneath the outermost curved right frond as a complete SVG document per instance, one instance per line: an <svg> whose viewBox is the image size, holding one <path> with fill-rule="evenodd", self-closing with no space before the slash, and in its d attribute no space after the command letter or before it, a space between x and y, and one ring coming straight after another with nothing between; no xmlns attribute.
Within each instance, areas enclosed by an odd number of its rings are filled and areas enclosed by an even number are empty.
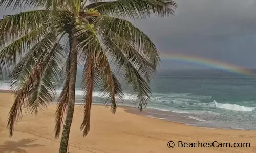
<svg viewBox="0 0 256 153"><path fill-rule="evenodd" d="M104 22L104 21L103 21ZM99 24L98 24L99 23ZM103 29L103 25L105 25L102 22L98 22L96 25L99 25L99 32L101 32L101 38L103 38L104 45L107 46L107 48L111 47L119 47L120 51L124 54L124 56L129 60L135 68L143 75L143 77L147 80L150 81L151 76L156 70L156 66L159 62L159 56L153 55L154 58L145 58L147 57L145 54L153 54L153 52L148 52L148 50L142 50L141 47L138 48L136 44L134 43L135 38L131 38L131 34L124 34L122 30L119 31L112 31L111 26L114 25L109 25L110 29ZM125 27L125 26L124 26ZM114 46L113 46L114 45ZM154 44L153 44L154 46ZM148 47L148 46L147 46ZM145 52L145 54L143 54ZM154 52L158 53L157 50L155 49ZM112 58L113 56L116 56L115 54L111 54L111 52L108 52L110 57ZM144 55L144 57L142 56ZM152 55L151 55L152 56ZM152 61L153 62L152 62ZM155 62L154 62L155 61Z"/></svg>

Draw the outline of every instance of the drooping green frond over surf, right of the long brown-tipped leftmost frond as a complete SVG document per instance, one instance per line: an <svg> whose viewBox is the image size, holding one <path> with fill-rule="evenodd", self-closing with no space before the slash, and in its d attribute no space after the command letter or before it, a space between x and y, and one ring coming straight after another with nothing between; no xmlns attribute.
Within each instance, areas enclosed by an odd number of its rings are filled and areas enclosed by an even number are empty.
<svg viewBox="0 0 256 153"><path fill-rule="evenodd" d="M56 95L56 89L61 84L61 64L63 47L56 43L48 55L42 60L36 74L35 86L31 88L28 107L35 115L39 108L46 108Z"/></svg>

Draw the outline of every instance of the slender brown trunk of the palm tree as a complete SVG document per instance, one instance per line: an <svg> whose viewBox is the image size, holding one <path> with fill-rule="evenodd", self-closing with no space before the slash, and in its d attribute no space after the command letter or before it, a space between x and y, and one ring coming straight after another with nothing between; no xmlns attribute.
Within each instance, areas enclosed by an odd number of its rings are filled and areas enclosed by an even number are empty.
<svg viewBox="0 0 256 153"><path fill-rule="evenodd" d="M60 147L59 153L66 153L68 148L69 142L69 133L70 127L73 119L74 114L74 107L75 107L75 85L76 85L76 72L77 72L77 41L70 39L70 82L69 82L69 102L68 102L68 110L67 110L67 117L65 120L65 125L63 125L63 132L60 140Z"/></svg>

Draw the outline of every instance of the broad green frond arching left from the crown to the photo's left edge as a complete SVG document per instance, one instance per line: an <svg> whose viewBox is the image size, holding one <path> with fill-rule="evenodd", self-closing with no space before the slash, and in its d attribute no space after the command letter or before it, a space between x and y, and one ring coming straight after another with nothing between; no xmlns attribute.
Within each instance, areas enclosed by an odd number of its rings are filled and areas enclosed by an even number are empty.
<svg viewBox="0 0 256 153"><path fill-rule="evenodd" d="M45 10L28 11L6 16L0 21L0 30L3 31L0 33L0 80L7 74L7 67L15 66L27 50L42 38L49 38L49 33L56 33L56 25L61 26L56 19L47 20L46 14Z"/></svg>

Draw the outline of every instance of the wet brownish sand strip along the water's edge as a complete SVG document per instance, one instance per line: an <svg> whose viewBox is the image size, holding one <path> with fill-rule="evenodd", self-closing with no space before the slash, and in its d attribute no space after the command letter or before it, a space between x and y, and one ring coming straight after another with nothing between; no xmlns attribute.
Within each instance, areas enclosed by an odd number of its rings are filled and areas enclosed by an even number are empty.
<svg viewBox="0 0 256 153"><path fill-rule="evenodd" d="M0 93L13 94L13 92L10 90L1 90L1 89L0 89ZM54 101L52 104L56 105L57 102ZM75 103L75 105L80 105L80 104L81 103ZM92 103L92 105L104 106L103 104L99 104L99 103ZM196 123L203 122L203 121L191 118L191 116L185 116L184 115L185 113L177 113L177 112L173 112L173 111L163 111L163 110L158 110L157 108L144 108L143 111L140 112L136 106L118 105L117 107L123 108L125 112L130 113L130 114L135 114L138 116L145 116L147 118L153 118L153 119L158 119L158 120L164 120L164 121L173 122L173 123L177 123L177 124L183 124L183 125L191 126L191 127L199 127L199 128L203 128L203 129L255 131L255 130L251 130L251 129L205 127L205 126L192 125L192 124L196 124ZM183 114L183 116L180 116L179 114ZM169 117L166 118L163 116L169 116Z"/></svg>

